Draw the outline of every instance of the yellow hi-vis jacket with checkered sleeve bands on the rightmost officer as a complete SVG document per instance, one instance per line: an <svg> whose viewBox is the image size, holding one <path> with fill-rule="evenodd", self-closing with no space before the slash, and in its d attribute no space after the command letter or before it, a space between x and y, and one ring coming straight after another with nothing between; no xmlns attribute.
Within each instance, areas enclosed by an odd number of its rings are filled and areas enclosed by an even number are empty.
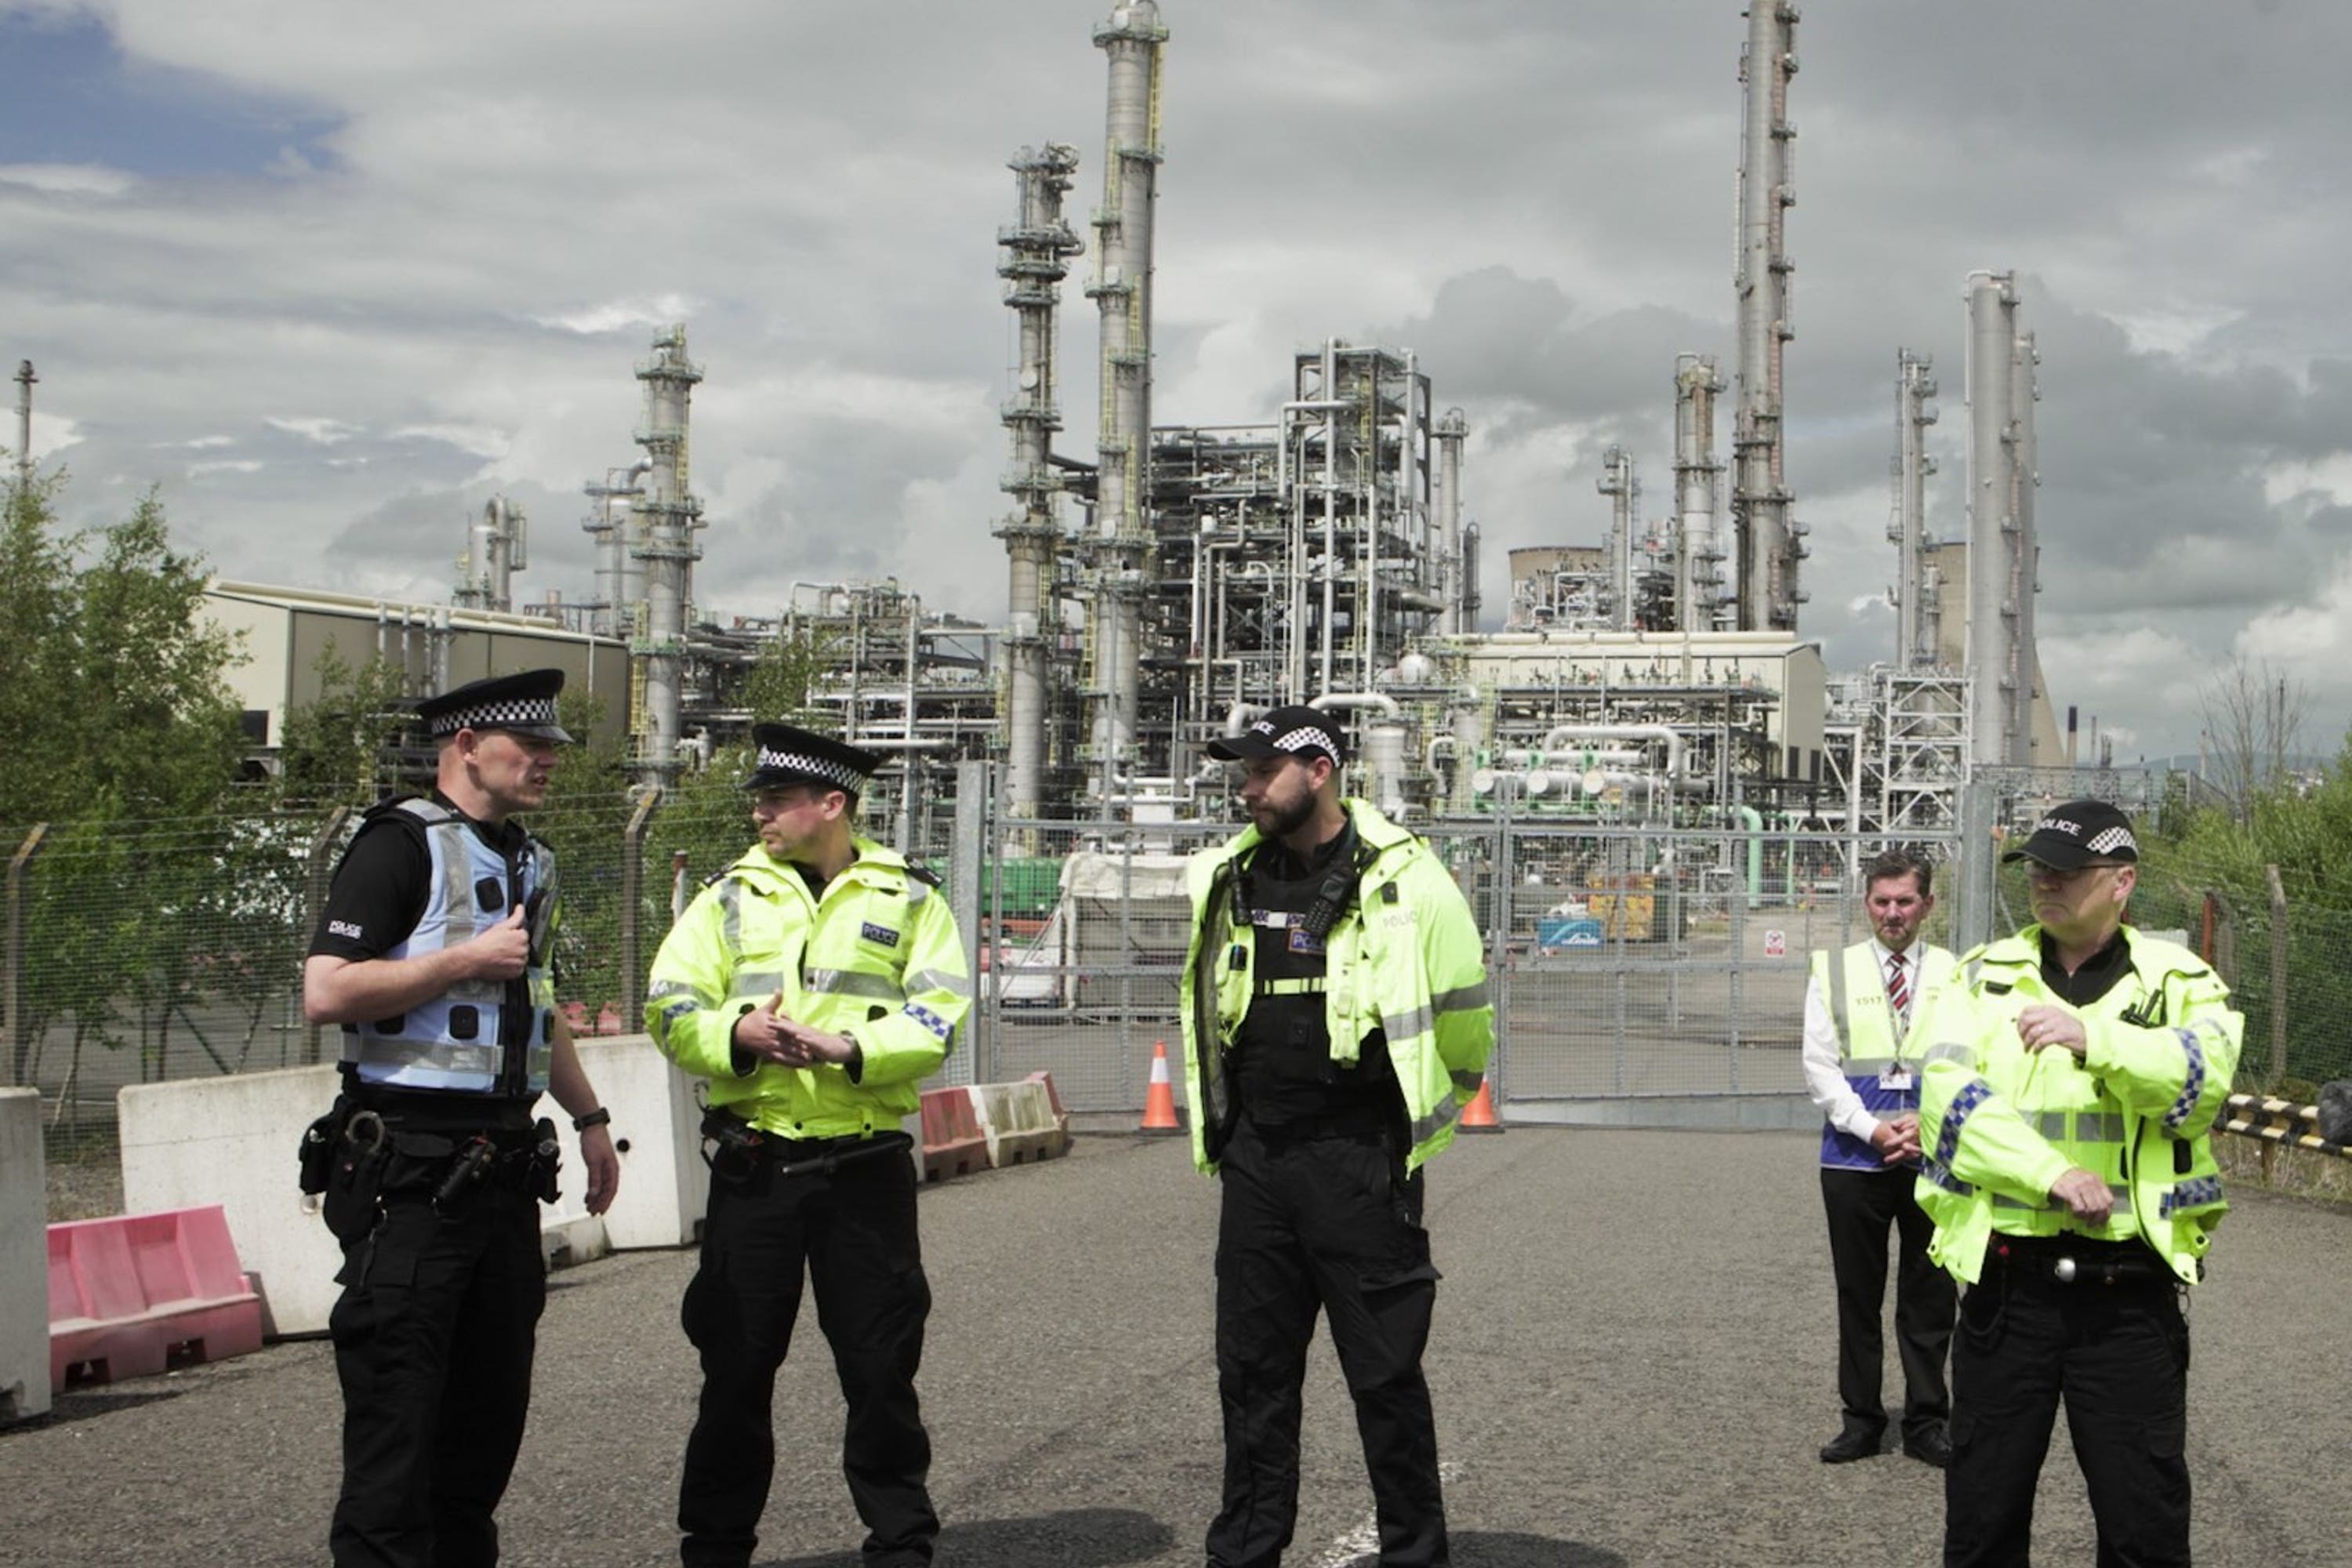
<svg viewBox="0 0 2352 1568"><path fill-rule="evenodd" d="M2230 987L2187 947L2124 926L2131 969L2086 1009L2042 980L2042 929L1978 947L1912 1020L1919 1095L1919 1206L1929 1253L1964 1281L1994 1232L2145 1239L2194 1284L2230 1204L2213 1164L2213 1117L2230 1098L2244 1018ZM2060 1006L2084 1023L2084 1060L2027 1051L2016 1020ZM2079 1225L2051 1182L2079 1166L2114 1194L2100 1227Z"/></svg>

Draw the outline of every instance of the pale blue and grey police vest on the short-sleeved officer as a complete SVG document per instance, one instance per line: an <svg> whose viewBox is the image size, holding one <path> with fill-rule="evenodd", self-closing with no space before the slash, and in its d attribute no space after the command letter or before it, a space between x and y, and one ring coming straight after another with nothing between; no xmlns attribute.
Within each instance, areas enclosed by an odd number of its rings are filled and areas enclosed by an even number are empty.
<svg viewBox="0 0 2352 1568"><path fill-rule="evenodd" d="M520 980L459 980L400 1018L346 1023L343 1060L362 1084L388 1088L541 1093L555 1060L555 978L548 971L555 851L524 837L508 865L470 820L440 802L400 799L379 811L397 811L421 827L430 856L426 912L383 957L414 959L470 943L520 903L532 926L532 961ZM524 1013L520 1023L515 1011Z"/></svg>

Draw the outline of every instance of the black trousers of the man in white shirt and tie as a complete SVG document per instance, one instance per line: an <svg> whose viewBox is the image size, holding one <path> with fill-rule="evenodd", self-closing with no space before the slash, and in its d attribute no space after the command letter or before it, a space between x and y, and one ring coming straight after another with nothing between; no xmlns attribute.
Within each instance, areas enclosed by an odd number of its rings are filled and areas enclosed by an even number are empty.
<svg viewBox="0 0 2352 1568"><path fill-rule="evenodd" d="M1952 1410L1943 1359L1952 1349L1959 1291L1929 1260L1933 1220L1912 1201L1912 1171L1820 1171L1837 1274L1837 1401L1849 1432L1886 1432L1886 1229L1896 1232L1896 1354L1903 1361L1903 1432L1922 1434Z"/></svg>

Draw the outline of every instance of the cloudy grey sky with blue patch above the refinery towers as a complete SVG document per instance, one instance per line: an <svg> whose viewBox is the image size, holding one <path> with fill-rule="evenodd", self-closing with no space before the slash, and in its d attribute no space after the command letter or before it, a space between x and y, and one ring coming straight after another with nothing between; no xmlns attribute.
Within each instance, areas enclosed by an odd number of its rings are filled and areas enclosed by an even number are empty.
<svg viewBox="0 0 2352 1568"><path fill-rule="evenodd" d="M442 599L492 494L517 597L593 588L581 484L689 324L701 602L898 576L997 618L1004 160L1101 190L1110 14L1063 0L0 0L0 360L101 522L160 487L226 576ZM1736 369L1738 0L1167 0L1160 423L1270 418L1327 336L1411 348L1503 557L1592 543L1599 454L1670 498L1677 350ZM2044 665L2124 759L2194 750L2237 658L2352 722L2352 7L1816 0L1788 475L1802 630L1886 658L1896 350L1945 388L1964 280L2042 350ZM1091 456L1094 308L1063 313ZM1726 397L1729 411L1729 397ZM12 433L14 435L14 433ZM1729 423L1717 435L1729 454Z"/></svg>

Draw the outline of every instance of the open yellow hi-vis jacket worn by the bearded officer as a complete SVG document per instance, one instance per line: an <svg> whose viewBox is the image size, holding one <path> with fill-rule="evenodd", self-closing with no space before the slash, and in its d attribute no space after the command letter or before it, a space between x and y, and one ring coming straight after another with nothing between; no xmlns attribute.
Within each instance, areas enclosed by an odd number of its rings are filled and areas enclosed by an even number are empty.
<svg viewBox="0 0 2352 1568"><path fill-rule="evenodd" d="M1364 1037L1388 1034L1388 1058L1404 1091L1411 1147L1406 1171L1454 1140L1454 1119L1479 1091L1494 1051L1494 1006L1477 922L1454 875L1428 844L1348 799L1359 872L1355 900L1324 940L1324 1027L1331 1060L1362 1058ZM1192 1105L1192 1164L1216 1171L1232 1114L1225 1051L1256 994L1254 933L1232 919L1237 863L1261 835L1244 827L1185 865L1192 945L1178 1011L1190 1032L1185 1095ZM1216 1126L1211 1126L1216 1124Z"/></svg>

